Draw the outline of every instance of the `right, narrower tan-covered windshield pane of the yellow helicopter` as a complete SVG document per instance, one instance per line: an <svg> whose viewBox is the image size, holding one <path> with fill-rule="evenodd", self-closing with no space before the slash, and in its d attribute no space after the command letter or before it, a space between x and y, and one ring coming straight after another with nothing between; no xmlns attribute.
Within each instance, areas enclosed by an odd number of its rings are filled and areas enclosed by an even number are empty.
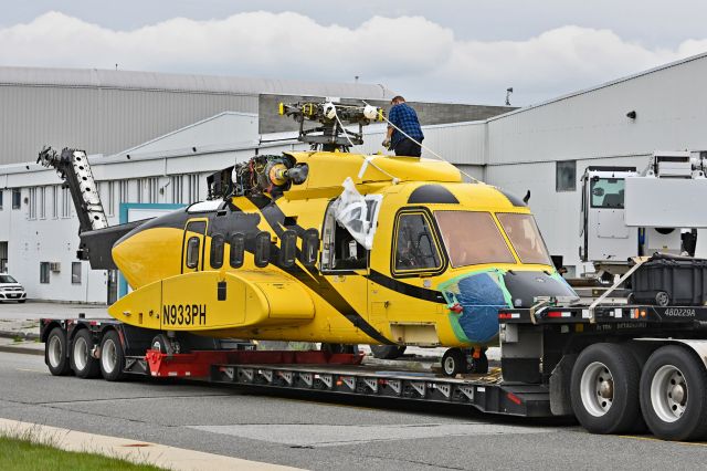
<svg viewBox="0 0 707 471"><path fill-rule="evenodd" d="M523 263L552 264L532 216L505 212L496 217Z"/></svg>

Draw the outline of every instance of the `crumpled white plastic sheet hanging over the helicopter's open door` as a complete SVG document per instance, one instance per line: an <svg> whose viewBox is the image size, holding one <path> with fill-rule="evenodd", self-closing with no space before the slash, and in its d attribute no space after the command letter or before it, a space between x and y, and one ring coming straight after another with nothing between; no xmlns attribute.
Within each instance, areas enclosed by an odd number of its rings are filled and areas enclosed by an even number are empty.
<svg viewBox="0 0 707 471"><path fill-rule="evenodd" d="M373 247L382 195L362 196L350 177L341 185L344 192L334 201L334 217L366 250Z"/></svg>

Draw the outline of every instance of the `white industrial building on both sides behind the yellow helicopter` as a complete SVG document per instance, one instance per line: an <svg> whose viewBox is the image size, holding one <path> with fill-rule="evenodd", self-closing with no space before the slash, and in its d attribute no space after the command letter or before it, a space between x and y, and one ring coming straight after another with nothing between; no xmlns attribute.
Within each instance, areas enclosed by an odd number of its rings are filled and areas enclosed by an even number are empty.
<svg viewBox="0 0 707 471"><path fill-rule="evenodd" d="M706 75L703 54L488 119L425 126L424 144L487 184L518 196L530 190L550 252L563 255L570 273L579 274L585 270L578 255L579 179L585 167L642 169L656 149L707 150ZM155 205L204 198L205 175L256 148L303 148L286 140L292 134L260 134L257 119L220 113L128 150L93 156L109 222L126 221L129 211L149 216L173 207ZM362 150L381 150L382 127L368 133ZM4 248L0 242L0 260L8 260L30 297L105 302L109 276L89 274L87 264L76 261L78 224L67 190L57 182L34 164L0 167L0 241L10 241Z"/></svg>

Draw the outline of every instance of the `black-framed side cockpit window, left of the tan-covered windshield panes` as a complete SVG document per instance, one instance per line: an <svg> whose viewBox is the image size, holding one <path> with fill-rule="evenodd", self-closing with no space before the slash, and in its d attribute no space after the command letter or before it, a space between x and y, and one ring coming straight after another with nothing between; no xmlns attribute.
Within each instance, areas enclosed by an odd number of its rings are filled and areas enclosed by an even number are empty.
<svg viewBox="0 0 707 471"><path fill-rule="evenodd" d="M430 221L423 213L400 214L397 228L395 272L430 271L442 266Z"/></svg>

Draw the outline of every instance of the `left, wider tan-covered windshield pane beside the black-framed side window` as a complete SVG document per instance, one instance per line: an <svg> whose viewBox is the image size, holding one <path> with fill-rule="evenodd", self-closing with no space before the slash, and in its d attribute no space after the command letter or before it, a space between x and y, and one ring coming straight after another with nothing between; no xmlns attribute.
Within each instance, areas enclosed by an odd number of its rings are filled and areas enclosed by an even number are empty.
<svg viewBox="0 0 707 471"><path fill-rule="evenodd" d="M434 216L452 266L516 263L489 212L436 211Z"/></svg>

